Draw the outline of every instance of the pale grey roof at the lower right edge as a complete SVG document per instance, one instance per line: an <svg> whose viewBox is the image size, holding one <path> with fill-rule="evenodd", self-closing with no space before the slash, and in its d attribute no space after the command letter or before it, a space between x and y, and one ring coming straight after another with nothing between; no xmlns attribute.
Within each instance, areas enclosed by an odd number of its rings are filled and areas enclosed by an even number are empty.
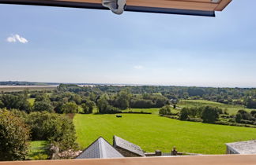
<svg viewBox="0 0 256 165"><path fill-rule="evenodd" d="M256 154L256 141L240 141L226 145L239 154Z"/></svg>

